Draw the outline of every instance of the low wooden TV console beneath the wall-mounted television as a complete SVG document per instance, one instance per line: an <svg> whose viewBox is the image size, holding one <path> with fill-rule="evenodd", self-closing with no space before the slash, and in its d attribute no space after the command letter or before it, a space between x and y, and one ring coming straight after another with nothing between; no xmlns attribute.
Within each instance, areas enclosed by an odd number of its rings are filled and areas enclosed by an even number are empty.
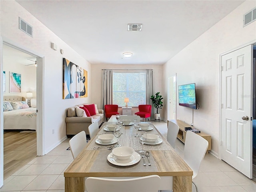
<svg viewBox="0 0 256 192"><path fill-rule="evenodd" d="M167 120L167 127L168 127L168 123L169 122L174 122L175 124L177 124L180 128L179 132L178 132L178 136L177 138L179 140L181 140L183 143L185 143L186 140L186 131L184 130L185 127L193 127L189 124L186 124L185 122L178 120L178 119L172 119L172 120ZM208 151L212 149L212 137L204 132L200 132L200 133L196 133L198 135L200 135L202 138L204 138L205 140L208 141L208 148L206 151L206 154L208 154Z"/></svg>

